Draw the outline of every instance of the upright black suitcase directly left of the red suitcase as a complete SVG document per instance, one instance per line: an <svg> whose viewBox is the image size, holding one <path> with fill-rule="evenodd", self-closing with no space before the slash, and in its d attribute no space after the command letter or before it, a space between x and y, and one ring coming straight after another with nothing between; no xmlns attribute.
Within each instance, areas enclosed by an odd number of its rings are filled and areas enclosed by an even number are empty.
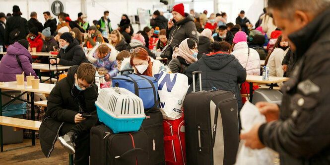
<svg viewBox="0 0 330 165"><path fill-rule="evenodd" d="M163 114L157 108L145 112L140 130L147 132L150 165L165 165Z"/></svg>

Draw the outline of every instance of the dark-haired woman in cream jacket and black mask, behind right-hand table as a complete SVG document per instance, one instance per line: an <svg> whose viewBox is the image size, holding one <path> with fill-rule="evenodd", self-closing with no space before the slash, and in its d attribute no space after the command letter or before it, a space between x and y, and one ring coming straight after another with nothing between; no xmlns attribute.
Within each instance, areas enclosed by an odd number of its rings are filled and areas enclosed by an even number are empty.
<svg viewBox="0 0 330 165"><path fill-rule="evenodd" d="M282 69L282 61L288 48L288 41L284 40L282 35L278 36L273 52L268 55L264 62L264 65L269 67L269 76L283 77L284 71ZM283 82L277 83L277 85L281 87L283 86Z"/></svg>

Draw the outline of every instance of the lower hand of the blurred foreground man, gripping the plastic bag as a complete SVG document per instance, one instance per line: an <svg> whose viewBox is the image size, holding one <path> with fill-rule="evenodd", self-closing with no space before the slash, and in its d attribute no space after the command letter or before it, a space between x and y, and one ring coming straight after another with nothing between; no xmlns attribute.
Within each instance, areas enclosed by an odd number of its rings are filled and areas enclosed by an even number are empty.
<svg viewBox="0 0 330 165"><path fill-rule="evenodd" d="M262 149L265 146L261 143L258 131L261 124L254 125L251 130L247 133L241 133L240 139L245 140L245 146L251 149Z"/></svg>

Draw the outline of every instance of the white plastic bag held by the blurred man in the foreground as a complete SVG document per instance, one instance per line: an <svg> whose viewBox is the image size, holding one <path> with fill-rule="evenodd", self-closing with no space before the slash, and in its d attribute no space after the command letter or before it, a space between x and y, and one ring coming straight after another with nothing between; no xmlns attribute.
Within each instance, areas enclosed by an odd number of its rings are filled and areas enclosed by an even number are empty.
<svg viewBox="0 0 330 165"><path fill-rule="evenodd" d="M242 123L241 133L249 132L257 123L266 122L264 115L249 101L244 104L240 115ZM245 147L245 140L241 140L235 165L273 165L275 156L276 153L269 148L252 150L249 147Z"/></svg>

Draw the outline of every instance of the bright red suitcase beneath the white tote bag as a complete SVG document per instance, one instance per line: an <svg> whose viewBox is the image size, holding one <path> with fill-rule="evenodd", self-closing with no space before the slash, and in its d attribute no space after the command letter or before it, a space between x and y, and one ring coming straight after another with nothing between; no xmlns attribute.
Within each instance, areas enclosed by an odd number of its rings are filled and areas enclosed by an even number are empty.
<svg viewBox="0 0 330 165"><path fill-rule="evenodd" d="M185 121L163 120L166 165L186 165Z"/></svg>

